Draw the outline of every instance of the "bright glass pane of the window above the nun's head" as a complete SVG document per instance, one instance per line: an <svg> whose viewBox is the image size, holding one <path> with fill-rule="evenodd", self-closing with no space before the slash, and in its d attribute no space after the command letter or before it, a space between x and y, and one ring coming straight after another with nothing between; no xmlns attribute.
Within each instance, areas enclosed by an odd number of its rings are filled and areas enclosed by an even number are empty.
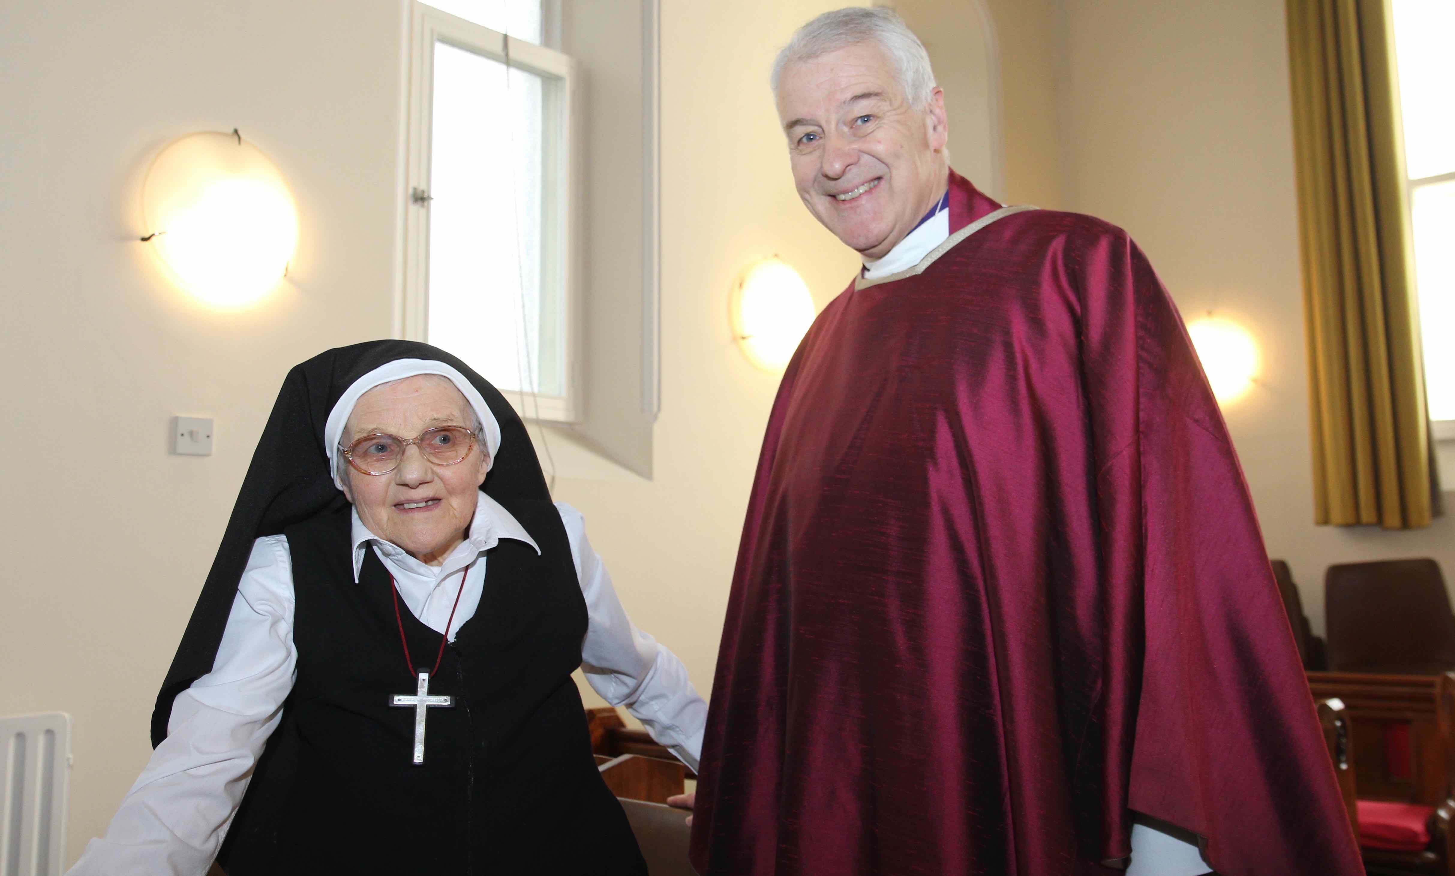
<svg viewBox="0 0 1455 876"><path fill-rule="evenodd" d="M559 311L541 285L546 99L538 76L435 45L428 333L501 389L560 395L559 346L540 343Z"/></svg>

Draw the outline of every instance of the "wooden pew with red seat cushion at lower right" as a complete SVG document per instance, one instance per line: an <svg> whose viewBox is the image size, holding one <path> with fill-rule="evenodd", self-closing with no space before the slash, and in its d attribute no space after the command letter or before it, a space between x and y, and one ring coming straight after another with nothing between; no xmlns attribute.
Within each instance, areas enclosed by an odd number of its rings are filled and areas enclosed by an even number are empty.
<svg viewBox="0 0 1455 876"><path fill-rule="evenodd" d="M1368 872L1455 876L1455 673L1308 678Z"/></svg>

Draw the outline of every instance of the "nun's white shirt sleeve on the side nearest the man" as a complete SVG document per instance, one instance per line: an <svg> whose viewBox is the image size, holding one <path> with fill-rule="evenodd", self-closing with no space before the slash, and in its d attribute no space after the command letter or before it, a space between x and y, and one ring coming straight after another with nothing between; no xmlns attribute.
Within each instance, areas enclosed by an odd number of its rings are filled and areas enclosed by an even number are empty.
<svg viewBox="0 0 1455 876"><path fill-rule="evenodd" d="M556 503L570 539L589 625L581 646L586 681L613 706L626 706L684 764L697 770L707 726L707 703L693 689L687 667L656 639L631 626L601 556L586 540L581 511Z"/></svg>

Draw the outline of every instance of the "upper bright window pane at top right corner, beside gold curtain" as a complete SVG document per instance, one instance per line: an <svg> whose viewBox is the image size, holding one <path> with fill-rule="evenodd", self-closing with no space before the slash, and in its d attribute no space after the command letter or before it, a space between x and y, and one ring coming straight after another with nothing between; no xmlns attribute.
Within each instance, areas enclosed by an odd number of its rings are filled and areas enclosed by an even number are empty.
<svg viewBox="0 0 1455 876"><path fill-rule="evenodd" d="M1394 0L1400 110L1410 179L1455 170L1455 1Z"/></svg>

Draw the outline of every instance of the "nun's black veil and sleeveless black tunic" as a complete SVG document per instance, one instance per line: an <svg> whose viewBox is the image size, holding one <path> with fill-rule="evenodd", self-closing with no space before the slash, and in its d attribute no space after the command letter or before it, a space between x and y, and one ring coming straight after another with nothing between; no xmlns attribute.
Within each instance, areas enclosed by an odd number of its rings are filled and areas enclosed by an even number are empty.
<svg viewBox="0 0 1455 876"><path fill-rule="evenodd" d="M420 766L409 760L412 710L387 706L388 694L413 693L388 574L370 551L354 585L351 508L324 443L339 398L396 359L442 362L480 392L501 431L483 490L541 549L506 539L489 552L486 593L431 689L457 707L431 712ZM279 533L294 562L298 678L218 856L228 876L645 873L570 680L586 607L569 542L525 427L490 384L399 340L329 350L288 373L157 694L154 745L176 694L212 670L255 539ZM413 620L400 620L409 649L432 654L439 633Z"/></svg>

